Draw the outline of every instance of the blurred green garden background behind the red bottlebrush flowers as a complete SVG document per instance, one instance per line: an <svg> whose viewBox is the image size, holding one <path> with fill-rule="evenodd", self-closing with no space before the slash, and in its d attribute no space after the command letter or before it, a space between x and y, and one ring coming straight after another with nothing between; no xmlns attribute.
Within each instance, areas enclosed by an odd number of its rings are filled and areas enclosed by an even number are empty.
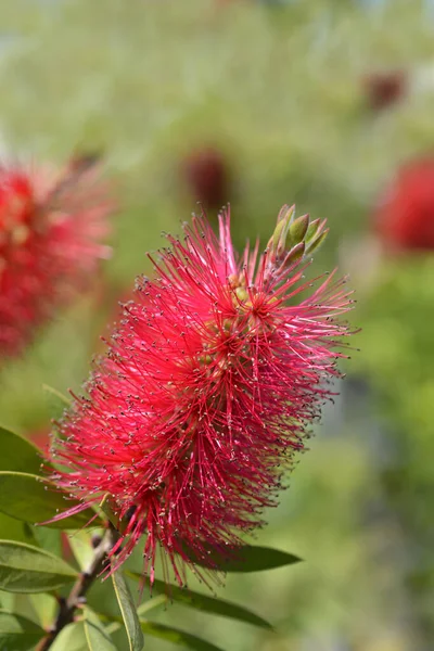
<svg viewBox="0 0 434 651"><path fill-rule="evenodd" d="M279 633L158 614L225 649L434 648L434 259L380 253L371 234L396 168L434 144L433 36L422 0L0 4L4 151L59 162L102 151L119 206L93 293L3 366L2 424L43 434L53 411L42 384L80 386L118 299L149 269L145 252L206 202L191 168L204 149L225 167L210 218L230 201L240 246L265 243L295 202L331 227L315 270L339 264L358 290L361 352L259 536L305 563L232 575L219 590ZM397 71L403 87L375 90L375 75Z"/></svg>

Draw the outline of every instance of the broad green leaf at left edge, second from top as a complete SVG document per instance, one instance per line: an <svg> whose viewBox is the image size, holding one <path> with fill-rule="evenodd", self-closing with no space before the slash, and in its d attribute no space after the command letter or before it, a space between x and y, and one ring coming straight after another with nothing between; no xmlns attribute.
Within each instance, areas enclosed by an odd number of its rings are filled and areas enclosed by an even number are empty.
<svg viewBox="0 0 434 651"><path fill-rule="evenodd" d="M0 511L30 523L42 523L77 502L66 499L49 480L24 472L0 472ZM54 528L81 528L94 516L90 509L50 522Z"/></svg>

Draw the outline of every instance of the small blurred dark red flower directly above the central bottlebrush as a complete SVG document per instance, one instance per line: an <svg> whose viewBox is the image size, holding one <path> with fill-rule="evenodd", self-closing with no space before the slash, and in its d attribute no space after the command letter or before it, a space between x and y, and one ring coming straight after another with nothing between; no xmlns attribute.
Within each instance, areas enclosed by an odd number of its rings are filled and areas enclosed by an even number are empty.
<svg viewBox="0 0 434 651"><path fill-rule="evenodd" d="M193 150L181 164L182 176L195 201L205 210L219 210L231 197L231 173L227 157L213 146Z"/></svg>

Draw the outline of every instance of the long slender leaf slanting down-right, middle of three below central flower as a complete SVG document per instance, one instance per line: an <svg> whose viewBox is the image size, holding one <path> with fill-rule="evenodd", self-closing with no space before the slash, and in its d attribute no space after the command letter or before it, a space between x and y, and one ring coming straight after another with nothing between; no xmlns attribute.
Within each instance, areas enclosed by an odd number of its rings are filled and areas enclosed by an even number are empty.
<svg viewBox="0 0 434 651"><path fill-rule="evenodd" d="M127 574L137 580L142 579L142 576L137 572L127 571ZM170 601L176 601L177 603L181 603L182 605L187 605L189 608L194 608L205 613L239 620L240 622L246 622L247 624L253 624L254 626L259 626L260 628L272 628L271 624L269 624L266 620L263 620L263 617L259 617L259 615L256 615L252 611L238 605L237 603L231 603L230 601L207 597L206 595L201 595L201 592L194 592L188 588L179 588L178 586L171 584L166 585L163 580L158 579L154 580L152 590L159 595L167 593Z"/></svg>

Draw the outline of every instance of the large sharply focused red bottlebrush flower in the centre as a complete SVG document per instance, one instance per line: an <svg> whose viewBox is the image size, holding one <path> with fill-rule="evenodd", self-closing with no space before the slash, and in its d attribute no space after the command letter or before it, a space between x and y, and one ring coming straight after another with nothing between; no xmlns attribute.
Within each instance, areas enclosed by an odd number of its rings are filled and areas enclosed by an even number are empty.
<svg viewBox="0 0 434 651"><path fill-rule="evenodd" d="M285 206L261 256L258 245L235 255L229 214L219 240L200 217L183 241L168 237L87 397L59 423L53 478L81 500L67 513L107 496L125 522L116 566L145 535L151 583L158 546L182 584L192 556L215 569L209 551L221 557L263 524L339 375L350 301L344 280L303 280L304 253L327 231L293 217Z"/></svg>

